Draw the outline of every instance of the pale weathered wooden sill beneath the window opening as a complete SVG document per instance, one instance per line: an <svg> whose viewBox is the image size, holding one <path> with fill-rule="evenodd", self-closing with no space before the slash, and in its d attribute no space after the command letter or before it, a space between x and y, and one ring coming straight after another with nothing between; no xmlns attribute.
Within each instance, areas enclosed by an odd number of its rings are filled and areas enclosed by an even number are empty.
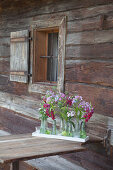
<svg viewBox="0 0 113 170"><path fill-rule="evenodd" d="M40 93L45 94L47 90L51 90L54 86L57 87L57 83L49 83L49 82L37 82L30 83L28 86L28 91L31 93Z"/></svg>

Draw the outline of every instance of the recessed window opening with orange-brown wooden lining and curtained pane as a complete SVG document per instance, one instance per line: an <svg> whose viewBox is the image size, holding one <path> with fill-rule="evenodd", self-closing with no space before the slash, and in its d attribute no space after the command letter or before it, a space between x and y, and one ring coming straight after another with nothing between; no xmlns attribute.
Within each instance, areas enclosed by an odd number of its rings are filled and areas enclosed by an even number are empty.
<svg viewBox="0 0 113 170"><path fill-rule="evenodd" d="M34 30L33 82L56 82L58 28Z"/></svg>

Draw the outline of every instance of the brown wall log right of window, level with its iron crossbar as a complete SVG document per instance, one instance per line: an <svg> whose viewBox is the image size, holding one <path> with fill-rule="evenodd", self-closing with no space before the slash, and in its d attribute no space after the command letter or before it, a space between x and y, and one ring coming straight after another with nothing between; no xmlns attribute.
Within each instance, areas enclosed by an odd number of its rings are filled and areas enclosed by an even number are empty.
<svg viewBox="0 0 113 170"><path fill-rule="evenodd" d="M67 60L113 59L113 44L104 43L104 44L94 44L94 45L66 46L66 59Z"/></svg>

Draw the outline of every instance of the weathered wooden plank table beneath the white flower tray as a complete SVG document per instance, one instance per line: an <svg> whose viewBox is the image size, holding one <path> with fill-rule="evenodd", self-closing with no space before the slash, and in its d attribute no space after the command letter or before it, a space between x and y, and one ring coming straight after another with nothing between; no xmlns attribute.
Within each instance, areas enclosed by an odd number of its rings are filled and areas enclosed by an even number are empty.
<svg viewBox="0 0 113 170"><path fill-rule="evenodd" d="M11 170L19 169L19 161L83 151L81 143L33 137L31 134L0 137L0 165L10 163ZM3 168L5 170L5 168Z"/></svg>

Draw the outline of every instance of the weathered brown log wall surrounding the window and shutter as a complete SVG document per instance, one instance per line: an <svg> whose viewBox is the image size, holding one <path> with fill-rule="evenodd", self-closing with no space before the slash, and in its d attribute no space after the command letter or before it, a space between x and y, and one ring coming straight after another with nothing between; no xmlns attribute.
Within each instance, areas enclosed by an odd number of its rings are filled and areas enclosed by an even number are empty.
<svg viewBox="0 0 113 170"><path fill-rule="evenodd" d="M106 126L113 128L113 1L9 0L0 2L0 15L0 106L38 117L41 94L9 80L10 32L67 16L65 91L76 91L95 105L92 134L102 136Z"/></svg>

